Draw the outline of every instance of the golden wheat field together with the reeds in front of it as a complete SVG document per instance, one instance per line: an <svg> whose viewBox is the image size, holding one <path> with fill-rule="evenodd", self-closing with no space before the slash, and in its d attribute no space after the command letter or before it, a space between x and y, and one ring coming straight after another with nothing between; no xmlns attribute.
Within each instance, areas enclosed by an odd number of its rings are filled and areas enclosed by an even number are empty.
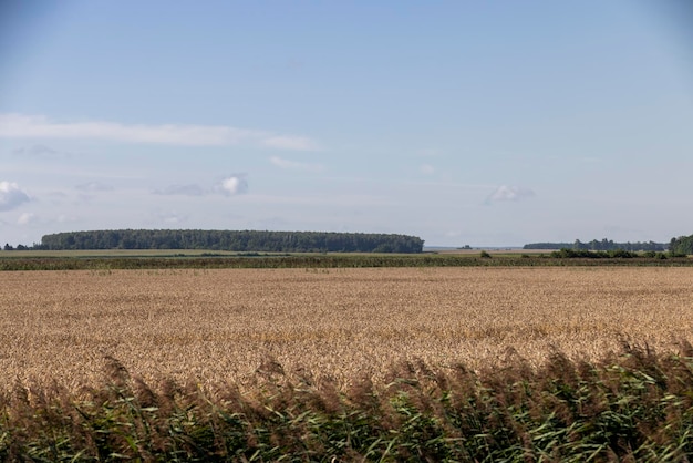
<svg viewBox="0 0 693 463"><path fill-rule="evenodd" d="M0 272L0 460L687 461L690 280L591 264Z"/></svg>

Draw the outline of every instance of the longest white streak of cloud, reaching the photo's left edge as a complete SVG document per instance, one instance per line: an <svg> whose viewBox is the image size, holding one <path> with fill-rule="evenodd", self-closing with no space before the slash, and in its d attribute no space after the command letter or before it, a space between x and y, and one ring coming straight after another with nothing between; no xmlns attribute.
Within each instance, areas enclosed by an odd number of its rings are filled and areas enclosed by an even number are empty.
<svg viewBox="0 0 693 463"><path fill-rule="evenodd" d="M318 144L304 136L226 125L144 125L106 121L56 122L43 115L0 114L0 137L6 138L97 138L125 143L182 146L250 144L278 150L311 151Z"/></svg>

